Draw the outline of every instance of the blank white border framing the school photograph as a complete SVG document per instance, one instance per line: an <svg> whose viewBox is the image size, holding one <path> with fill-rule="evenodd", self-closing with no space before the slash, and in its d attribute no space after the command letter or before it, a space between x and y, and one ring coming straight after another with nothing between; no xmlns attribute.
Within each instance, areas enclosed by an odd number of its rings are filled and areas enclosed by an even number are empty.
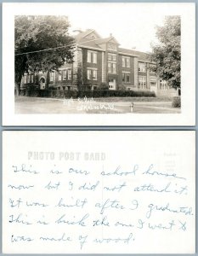
<svg viewBox="0 0 198 256"><path fill-rule="evenodd" d="M14 15L68 15L71 4L126 4L150 15L181 15L181 113L15 114ZM3 3L3 125L195 125L195 3Z"/></svg>

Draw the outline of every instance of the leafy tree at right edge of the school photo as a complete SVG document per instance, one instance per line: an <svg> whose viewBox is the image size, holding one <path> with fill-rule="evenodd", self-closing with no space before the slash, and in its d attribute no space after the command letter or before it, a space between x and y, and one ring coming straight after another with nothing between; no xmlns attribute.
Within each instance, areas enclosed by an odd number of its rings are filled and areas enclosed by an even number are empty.
<svg viewBox="0 0 198 256"><path fill-rule="evenodd" d="M156 62L156 74L174 88L180 87L181 20L180 16L167 16L164 26L157 26L160 43L152 45L151 61Z"/></svg>

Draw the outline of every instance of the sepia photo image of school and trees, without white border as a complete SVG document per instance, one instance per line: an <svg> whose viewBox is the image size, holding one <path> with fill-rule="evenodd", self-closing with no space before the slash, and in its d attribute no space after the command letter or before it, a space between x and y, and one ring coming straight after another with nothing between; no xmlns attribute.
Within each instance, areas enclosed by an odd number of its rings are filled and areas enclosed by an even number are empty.
<svg viewBox="0 0 198 256"><path fill-rule="evenodd" d="M16 113L180 111L180 16L161 17L163 25L156 27L159 43L150 53L136 49L137 39L133 46L136 24L122 38L123 43L131 41L133 48L127 49L112 33L102 37L94 28L69 33L69 20L70 16L15 16ZM99 20L89 21L97 26ZM140 22L142 26L144 20ZM120 28L114 30L119 35ZM144 30L142 26L137 33ZM42 98L49 101L43 104Z"/></svg>

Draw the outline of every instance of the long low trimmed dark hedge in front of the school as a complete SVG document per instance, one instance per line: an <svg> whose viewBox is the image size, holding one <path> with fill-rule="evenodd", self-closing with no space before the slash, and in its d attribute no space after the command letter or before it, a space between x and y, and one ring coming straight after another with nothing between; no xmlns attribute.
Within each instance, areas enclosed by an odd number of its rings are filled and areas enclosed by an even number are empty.
<svg viewBox="0 0 198 256"><path fill-rule="evenodd" d="M153 91L138 90L39 90L26 89L21 91L21 96L50 97L50 98L82 98L82 97L156 97Z"/></svg>

